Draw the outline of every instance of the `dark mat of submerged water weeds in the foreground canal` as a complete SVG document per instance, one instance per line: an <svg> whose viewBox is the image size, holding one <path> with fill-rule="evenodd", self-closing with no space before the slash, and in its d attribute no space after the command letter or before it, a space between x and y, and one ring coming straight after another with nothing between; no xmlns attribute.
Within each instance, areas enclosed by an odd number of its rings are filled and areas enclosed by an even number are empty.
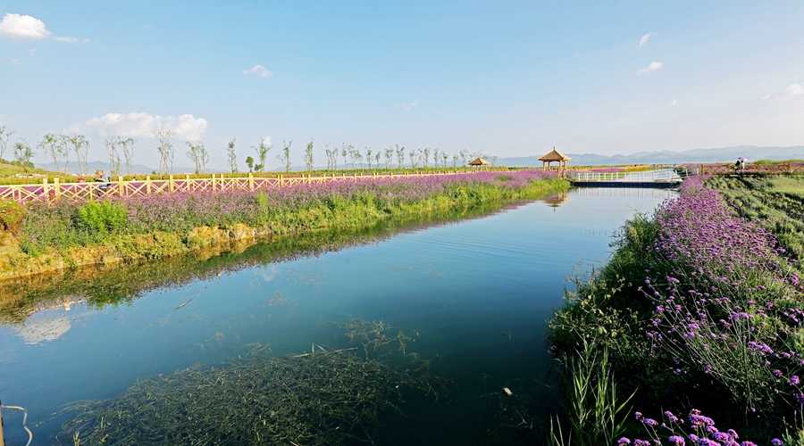
<svg viewBox="0 0 804 446"><path fill-rule="evenodd" d="M388 324L351 321L351 345L397 347ZM393 349L391 349L393 350ZM374 350L373 350L374 351ZM244 358L138 381L119 397L82 401L59 438L88 444L346 444L373 442L381 417L406 395L426 396L440 380L421 368L391 368L313 344L293 356L257 346Z"/></svg>

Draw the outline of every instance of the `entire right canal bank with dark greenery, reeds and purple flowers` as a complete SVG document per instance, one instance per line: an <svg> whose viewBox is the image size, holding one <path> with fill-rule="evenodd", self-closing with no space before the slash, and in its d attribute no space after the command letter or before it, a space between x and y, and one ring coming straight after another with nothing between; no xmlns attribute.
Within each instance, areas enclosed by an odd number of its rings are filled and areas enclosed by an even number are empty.
<svg viewBox="0 0 804 446"><path fill-rule="evenodd" d="M801 444L800 233L742 218L775 193L739 183L688 179L567 295L550 321L567 377L553 444ZM796 219L793 183L779 178L776 221Z"/></svg>

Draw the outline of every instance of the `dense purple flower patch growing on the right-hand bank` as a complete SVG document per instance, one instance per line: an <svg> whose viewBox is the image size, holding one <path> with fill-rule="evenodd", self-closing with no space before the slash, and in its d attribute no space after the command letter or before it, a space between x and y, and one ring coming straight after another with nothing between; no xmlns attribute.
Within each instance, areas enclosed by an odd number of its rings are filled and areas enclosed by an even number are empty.
<svg viewBox="0 0 804 446"><path fill-rule="evenodd" d="M802 322L797 273L774 235L737 217L720 195L688 180L657 211L654 305L646 334L674 374L704 374L750 412L804 402L804 351L791 343ZM784 396L786 395L786 397Z"/></svg>

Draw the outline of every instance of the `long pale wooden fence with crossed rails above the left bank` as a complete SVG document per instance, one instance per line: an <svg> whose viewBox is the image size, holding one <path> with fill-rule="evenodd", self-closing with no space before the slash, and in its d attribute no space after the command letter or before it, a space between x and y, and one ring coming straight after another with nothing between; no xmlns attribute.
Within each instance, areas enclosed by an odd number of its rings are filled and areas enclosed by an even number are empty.
<svg viewBox="0 0 804 446"><path fill-rule="evenodd" d="M124 179L116 181L60 183L59 178L48 182L30 185L0 185L0 200L15 202L55 202L59 200L87 201L105 198L144 197L154 194L192 194L204 192L257 191L271 187L294 186L299 184L316 184L328 181L364 181L378 178L413 178L440 175L461 175L471 173L465 170L440 170L421 173L373 173L371 175L296 175L276 177L227 177L213 174L211 178L191 178L185 176L169 176L168 178Z"/></svg>

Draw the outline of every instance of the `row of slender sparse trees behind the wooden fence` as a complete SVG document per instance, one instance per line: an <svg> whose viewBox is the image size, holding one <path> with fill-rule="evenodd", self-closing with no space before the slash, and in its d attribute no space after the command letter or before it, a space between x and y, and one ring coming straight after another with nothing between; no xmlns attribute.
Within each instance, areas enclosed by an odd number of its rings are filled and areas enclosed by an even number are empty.
<svg viewBox="0 0 804 446"><path fill-rule="evenodd" d="M0 126L0 159L5 159L5 152L9 141L14 132L9 128ZM159 155L159 171L161 173L171 172L175 158L175 147L172 143L174 132L169 128L157 129L154 137L156 140L156 151ZM202 141L187 141L187 156L193 162L196 173L204 172L209 163L209 151ZM285 171L290 171L290 151L292 141L282 141L281 151L277 155L277 160ZM109 156L111 176L121 175L123 167L125 173L131 173L131 161L134 156L135 140L132 137L113 136L105 139L106 153ZM54 164L56 170L59 169L60 161L63 161L64 172L68 172L71 156L75 156L80 169L80 173L86 174L89 141L83 135L56 135L48 133L42 137L38 144L38 149L45 153ZM261 172L267 167L268 156L273 146L264 137L260 138L257 145L252 145L251 149L255 156L248 155L245 159L249 172ZM404 145L393 145L384 149L372 149L364 147L358 149L355 145L340 145L324 149L328 170L339 169L403 169L409 167L417 168L448 168L465 166L473 158L482 157L482 153L460 151L458 153L447 153L437 148L424 147L421 149L407 149ZM13 145L13 157L22 165L31 165L34 155L33 149L24 141L19 141ZM230 139L227 145L227 159L231 172L239 169L237 140ZM308 171L314 169L314 142L310 141L305 145L304 152L305 168ZM491 157L492 164L496 157Z"/></svg>

